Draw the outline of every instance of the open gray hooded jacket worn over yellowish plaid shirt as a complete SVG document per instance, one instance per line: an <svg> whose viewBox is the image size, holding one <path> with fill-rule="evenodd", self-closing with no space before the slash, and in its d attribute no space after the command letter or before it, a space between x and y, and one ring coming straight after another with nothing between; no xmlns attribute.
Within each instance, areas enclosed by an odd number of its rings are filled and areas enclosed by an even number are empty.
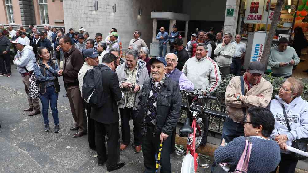
<svg viewBox="0 0 308 173"><path fill-rule="evenodd" d="M138 65L137 84L139 85L140 89L139 89L138 92L136 92L136 100L135 100L134 110L137 110L137 106L138 106L138 102L139 102L139 95L141 93L144 81L150 79L148 69L146 68L147 63L144 62L143 60L139 59L137 61L137 65ZM126 73L125 73L126 70L127 70L126 62L119 65L115 70L115 73L117 73L119 81L120 81L120 87L123 83L123 80L126 78ZM122 97L122 99L118 102L119 108L121 108L121 109L123 109L124 106L125 106L124 105L124 98L125 97Z"/></svg>

